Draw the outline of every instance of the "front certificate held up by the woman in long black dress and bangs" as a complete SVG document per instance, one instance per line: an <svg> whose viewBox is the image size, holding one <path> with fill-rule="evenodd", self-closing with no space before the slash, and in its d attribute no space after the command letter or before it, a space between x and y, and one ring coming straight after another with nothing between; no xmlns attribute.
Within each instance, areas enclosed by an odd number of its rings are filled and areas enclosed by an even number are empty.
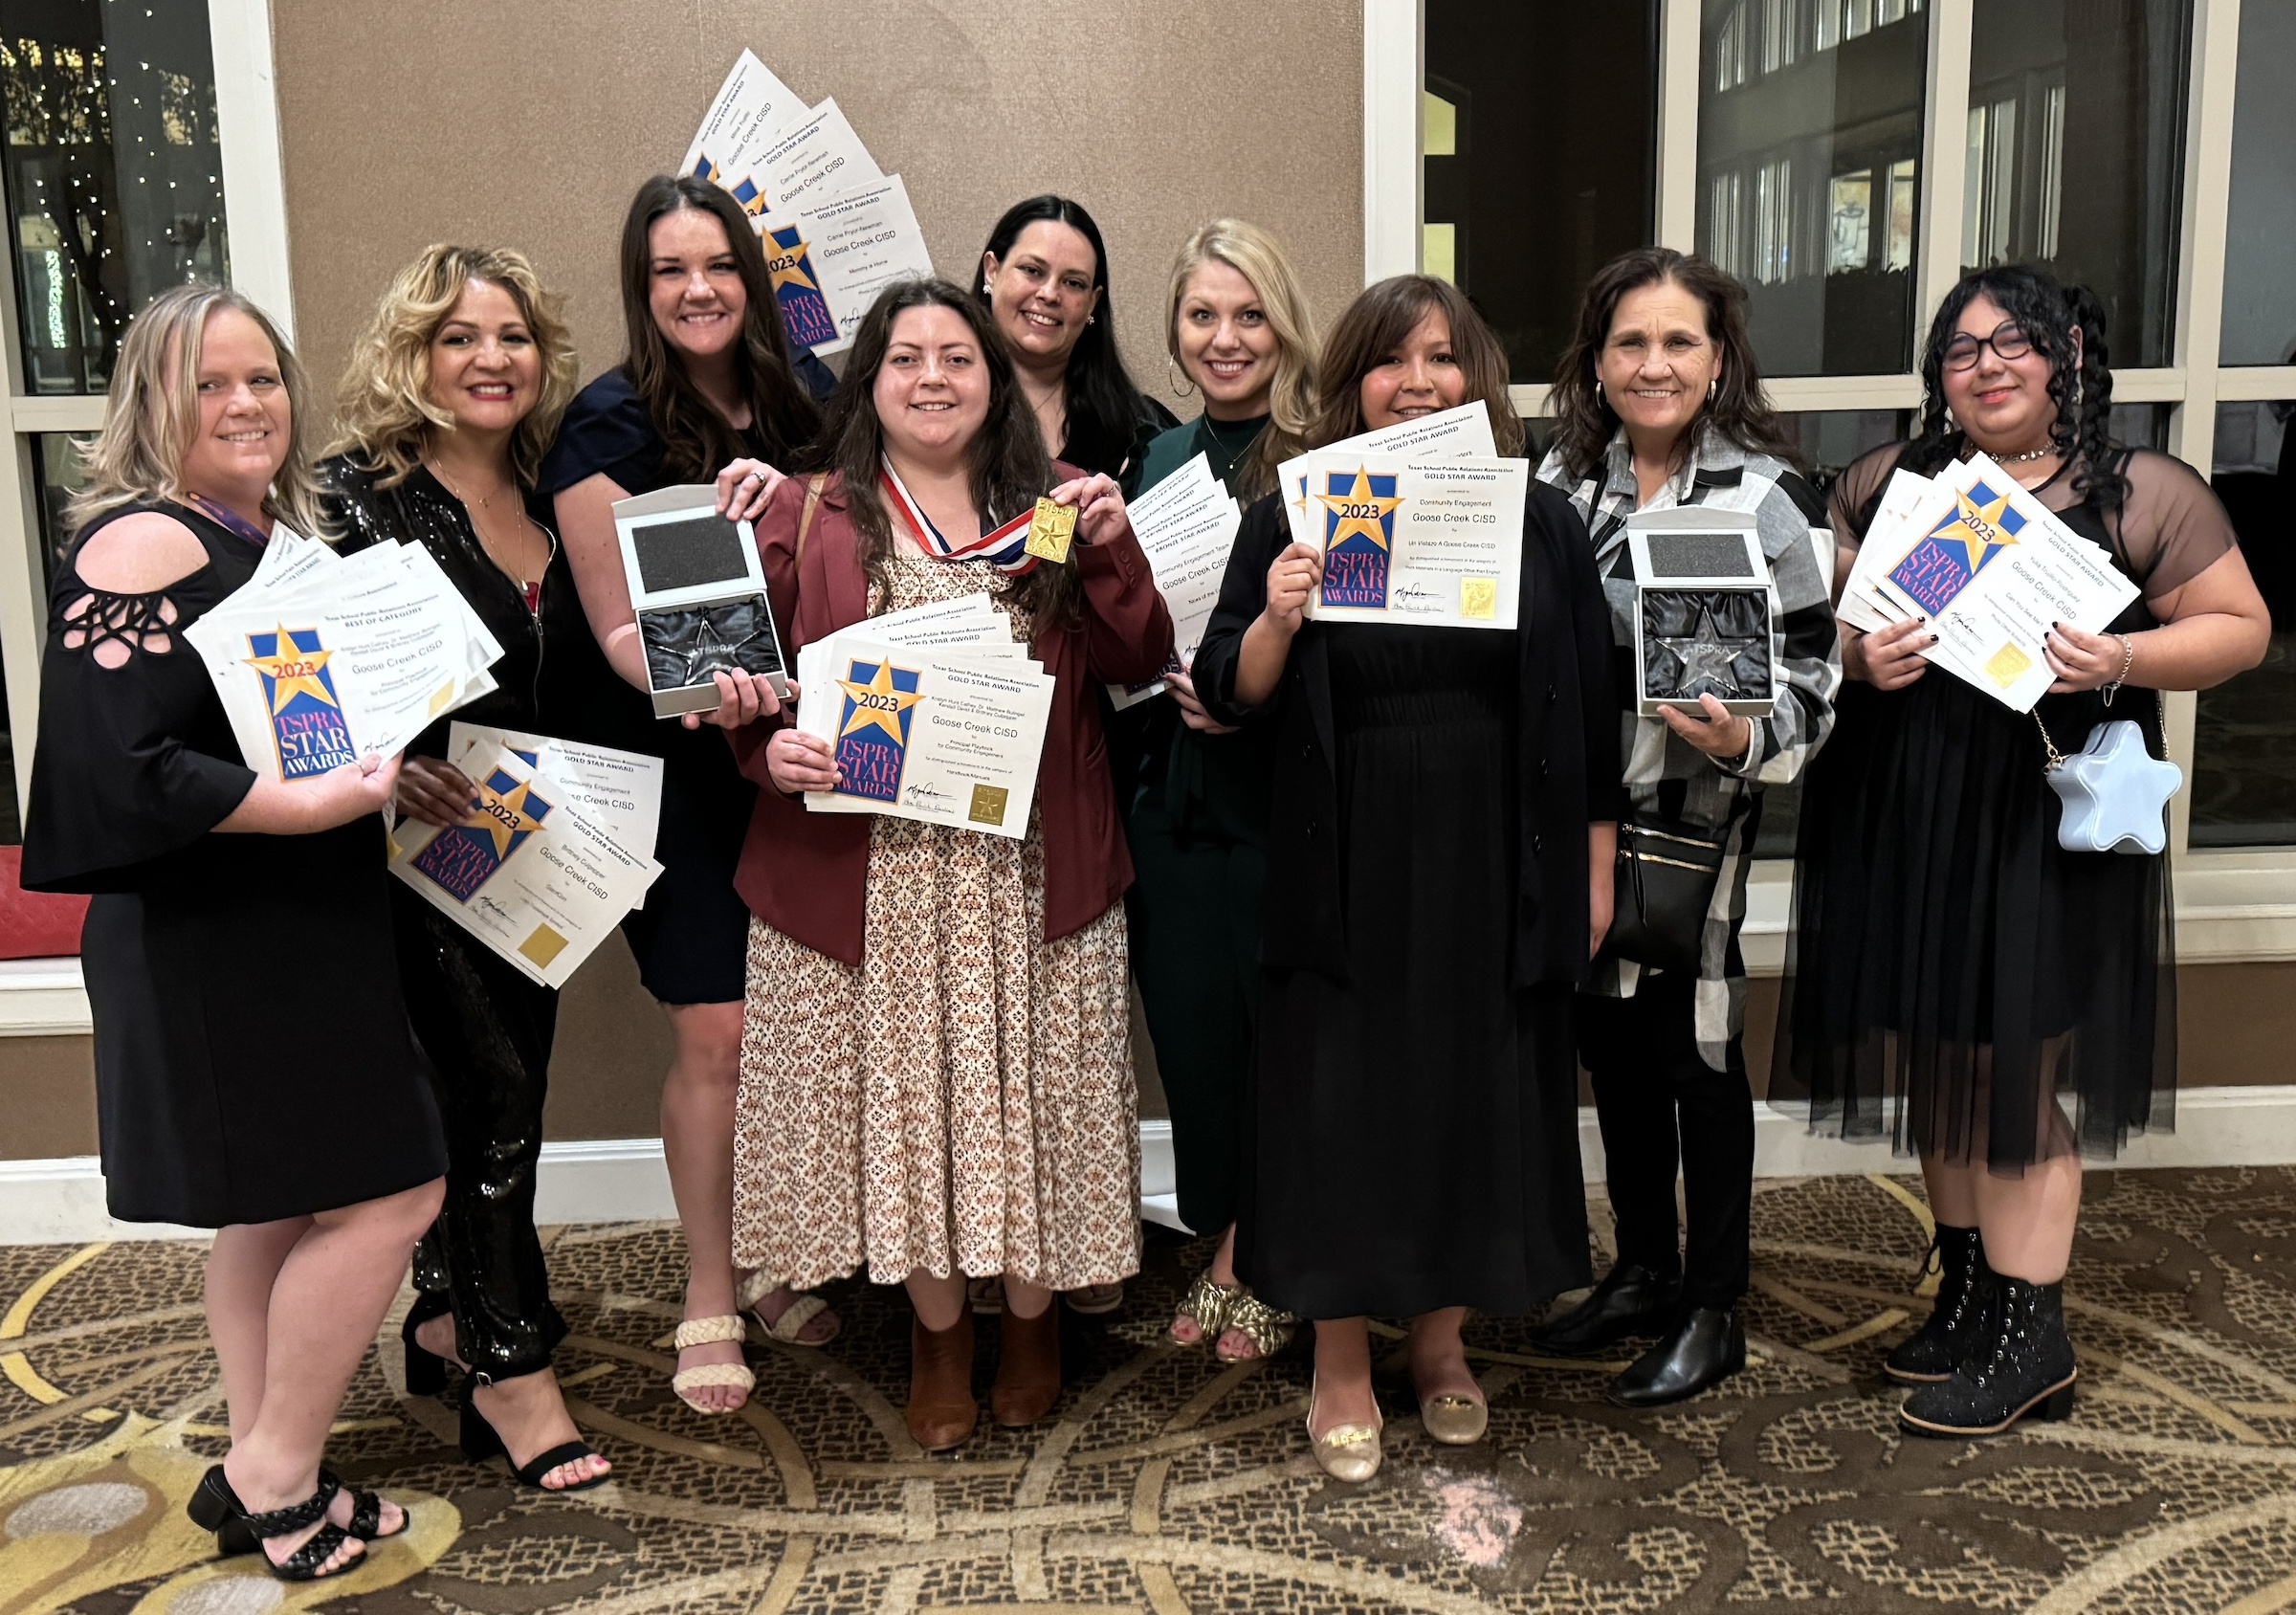
<svg viewBox="0 0 2296 1615"><path fill-rule="evenodd" d="M1318 623L1515 627L1531 462L1306 455L1304 501L1322 588Z"/></svg>

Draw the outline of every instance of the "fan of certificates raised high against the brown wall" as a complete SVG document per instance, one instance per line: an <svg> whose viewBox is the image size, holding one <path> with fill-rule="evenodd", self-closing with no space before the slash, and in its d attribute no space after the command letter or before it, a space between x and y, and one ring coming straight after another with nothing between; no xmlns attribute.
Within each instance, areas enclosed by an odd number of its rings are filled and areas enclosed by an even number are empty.
<svg viewBox="0 0 2296 1615"><path fill-rule="evenodd" d="M748 51L680 172L723 186L758 221L797 347L843 354L877 292L932 273L907 186L877 168L836 96L808 108Z"/></svg>

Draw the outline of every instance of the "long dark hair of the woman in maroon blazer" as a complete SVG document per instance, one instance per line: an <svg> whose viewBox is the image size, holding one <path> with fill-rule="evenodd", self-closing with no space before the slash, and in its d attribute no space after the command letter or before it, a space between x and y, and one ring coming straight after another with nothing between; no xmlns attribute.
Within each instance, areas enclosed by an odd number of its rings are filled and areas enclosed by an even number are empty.
<svg viewBox="0 0 2296 1615"><path fill-rule="evenodd" d="M861 528L861 572L879 602L891 600L886 561L893 554L893 515L877 494L877 464L884 455L884 423L877 420L877 372L893 342L893 322L912 308L951 308L980 342L980 363L987 365L990 374L990 414L967 453L974 503L980 512L990 521L1008 521L1052 487L1052 457L1045 455L1035 411L1019 395L1013 358L1006 354L990 312L967 296L964 287L948 280L889 285L861 317L861 329L854 331L852 351L845 356L845 377L829 400L829 418L822 423L820 446L813 455L815 469L836 471L845 485L845 510ZM1077 620L1084 611L1084 588L1077 584L1075 551L1061 565L1038 561L1035 570L1013 586L1013 595L1038 618Z"/></svg>

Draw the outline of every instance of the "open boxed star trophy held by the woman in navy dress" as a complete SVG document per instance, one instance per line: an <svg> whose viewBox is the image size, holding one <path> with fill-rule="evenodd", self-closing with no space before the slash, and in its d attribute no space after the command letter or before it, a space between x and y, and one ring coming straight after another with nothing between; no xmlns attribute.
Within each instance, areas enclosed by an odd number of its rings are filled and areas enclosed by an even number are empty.
<svg viewBox="0 0 2296 1615"><path fill-rule="evenodd" d="M716 487L691 482L618 501L613 531L645 646L654 717L716 705L712 673L755 673L788 696L788 664L748 521L716 512Z"/></svg>

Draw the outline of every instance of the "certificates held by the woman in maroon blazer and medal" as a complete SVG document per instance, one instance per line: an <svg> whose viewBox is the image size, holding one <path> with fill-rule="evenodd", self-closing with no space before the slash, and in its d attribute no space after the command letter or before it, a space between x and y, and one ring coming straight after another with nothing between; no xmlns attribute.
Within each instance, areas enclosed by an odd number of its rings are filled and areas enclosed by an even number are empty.
<svg viewBox="0 0 2296 1615"><path fill-rule="evenodd" d="M815 813L1029 834L1054 678L987 595L891 611L797 652L797 728L829 742Z"/></svg>

